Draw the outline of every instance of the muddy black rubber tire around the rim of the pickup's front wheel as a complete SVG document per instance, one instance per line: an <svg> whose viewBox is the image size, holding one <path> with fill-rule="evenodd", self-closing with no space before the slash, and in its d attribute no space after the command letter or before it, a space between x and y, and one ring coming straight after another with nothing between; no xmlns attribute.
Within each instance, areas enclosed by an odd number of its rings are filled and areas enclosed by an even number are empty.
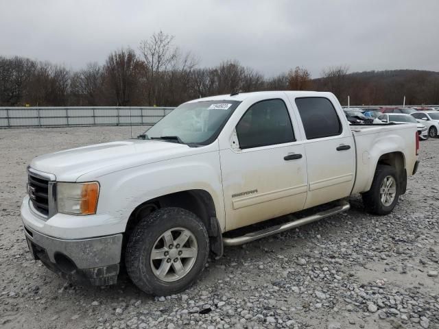
<svg viewBox="0 0 439 329"><path fill-rule="evenodd" d="M185 228L195 236L198 252L191 269L182 278L167 282L152 271L151 252L157 239L168 230ZM145 293L167 296L180 293L193 284L206 266L209 235L201 220L181 208L161 208L141 219L132 231L126 247L126 269L132 282Z"/></svg>

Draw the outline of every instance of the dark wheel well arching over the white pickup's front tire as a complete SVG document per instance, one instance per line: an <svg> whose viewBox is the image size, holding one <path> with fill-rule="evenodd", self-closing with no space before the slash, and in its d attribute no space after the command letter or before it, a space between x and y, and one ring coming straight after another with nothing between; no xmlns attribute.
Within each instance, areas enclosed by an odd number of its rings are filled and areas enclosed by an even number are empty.
<svg viewBox="0 0 439 329"><path fill-rule="evenodd" d="M204 190L188 190L148 200L137 206L128 219L125 230L125 241L139 221L151 212L165 207L177 207L189 210L201 219L209 233L211 252L222 256L222 232L216 217L215 204L209 192Z"/></svg>

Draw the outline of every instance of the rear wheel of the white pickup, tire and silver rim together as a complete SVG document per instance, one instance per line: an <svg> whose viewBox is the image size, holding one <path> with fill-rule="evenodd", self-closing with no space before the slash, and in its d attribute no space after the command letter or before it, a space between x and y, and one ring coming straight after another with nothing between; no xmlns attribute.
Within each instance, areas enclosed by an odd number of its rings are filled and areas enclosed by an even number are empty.
<svg viewBox="0 0 439 329"><path fill-rule="evenodd" d="M388 215L398 202L399 190L396 169L379 164L370 190L361 195L364 208L375 215Z"/></svg>

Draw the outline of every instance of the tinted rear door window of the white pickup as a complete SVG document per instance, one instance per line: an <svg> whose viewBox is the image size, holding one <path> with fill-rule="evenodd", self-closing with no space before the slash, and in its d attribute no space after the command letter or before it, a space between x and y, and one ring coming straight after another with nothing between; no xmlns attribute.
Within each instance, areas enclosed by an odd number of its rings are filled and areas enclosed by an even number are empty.
<svg viewBox="0 0 439 329"><path fill-rule="evenodd" d="M324 97L296 98L296 106L307 139L337 136L342 133L342 123L329 99Z"/></svg>

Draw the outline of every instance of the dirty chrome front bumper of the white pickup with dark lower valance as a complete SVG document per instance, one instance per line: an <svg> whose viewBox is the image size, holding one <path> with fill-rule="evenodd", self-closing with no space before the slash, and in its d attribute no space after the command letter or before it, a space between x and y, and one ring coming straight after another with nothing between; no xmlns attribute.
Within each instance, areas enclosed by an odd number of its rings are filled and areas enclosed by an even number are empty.
<svg viewBox="0 0 439 329"><path fill-rule="evenodd" d="M23 224L29 252L46 267L73 283L115 284L121 260L122 234L91 239L57 239Z"/></svg>

